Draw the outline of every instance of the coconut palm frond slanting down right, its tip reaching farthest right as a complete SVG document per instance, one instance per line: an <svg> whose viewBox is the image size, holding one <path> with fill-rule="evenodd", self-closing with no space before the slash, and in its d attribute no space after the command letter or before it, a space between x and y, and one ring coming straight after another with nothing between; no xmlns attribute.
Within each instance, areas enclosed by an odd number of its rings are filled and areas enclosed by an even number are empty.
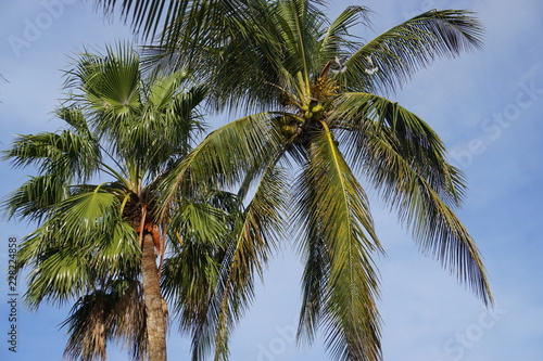
<svg viewBox="0 0 543 361"><path fill-rule="evenodd" d="M379 136L369 141L364 159L371 183L413 230L420 250L440 260L484 304L492 304L479 250L466 228L442 201L439 190Z"/></svg>

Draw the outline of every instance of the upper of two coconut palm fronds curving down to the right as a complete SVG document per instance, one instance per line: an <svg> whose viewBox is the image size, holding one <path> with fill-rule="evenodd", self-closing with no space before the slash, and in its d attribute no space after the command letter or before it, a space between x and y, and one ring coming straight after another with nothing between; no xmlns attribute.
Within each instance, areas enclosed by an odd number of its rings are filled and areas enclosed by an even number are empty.
<svg viewBox="0 0 543 361"><path fill-rule="evenodd" d="M345 93L330 116L332 127L345 130L341 141L356 168L366 165L367 142L379 129L394 151L452 207L459 207L465 195L464 177L446 162L445 146L439 136L417 115L397 103L370 93Z"/></svg>

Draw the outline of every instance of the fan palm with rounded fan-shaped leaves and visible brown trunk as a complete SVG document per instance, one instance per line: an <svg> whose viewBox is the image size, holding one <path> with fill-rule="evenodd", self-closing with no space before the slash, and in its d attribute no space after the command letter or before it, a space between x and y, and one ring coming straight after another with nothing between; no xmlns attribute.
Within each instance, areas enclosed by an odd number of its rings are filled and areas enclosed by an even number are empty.
<svg viewBox="0 0 543 361"><path fill-rule="evenodd" d="M39 224L18 253L20 268L29 270L28 305L76 300L64 323L70 359L105 360L106 341L122 340L135 360L166 360L160 278L167 244L213 255L226 240L219 207L232 198L224 192L185 194L161 207L165 217L156 212L161 184L203 129L195 109L206 90L188 89L188 80L182 72L143 78L128 46L83 54L67 72L71 93L56 112L66 129L20 136L4 151L15 167L39 171L3 207ZM187 262L206 276L216 268Z"/></svg>

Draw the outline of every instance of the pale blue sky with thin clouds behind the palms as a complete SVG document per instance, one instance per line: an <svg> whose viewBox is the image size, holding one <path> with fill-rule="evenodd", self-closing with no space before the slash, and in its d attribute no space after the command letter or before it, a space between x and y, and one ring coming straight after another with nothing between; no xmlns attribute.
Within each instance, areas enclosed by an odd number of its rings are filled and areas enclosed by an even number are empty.
<svg viewBox="0 0 543 361"><path fill-rule="evenodd" d="M459 218L484 257L495 299L485 309L433 259L421 255L394 215L372 197L377 232L387 255L378 260L384 360L543 360L543 2L541 0L341 0L374 11L370 40L430 9L470 9L485 27L483 49L455 60L437 60L390 98L419 115L441 136L450 159L467 177L469 191ZM105 21L92 1L3 0L0 3L0 147L14 134L54 131L52 111L63 98L62 72L84 46L132 40L118 20ZM215 118L212 126L232 120ZM0 163L0 194L24 181L25 170ZM59 324L68 308L22 302L24 281L9 296L9 245L31 229L0 225L0 360L61 360L66 341ZM251 311L231 339L233 361L329 360L323 338L295 345L301 267L289 243L270 261ZM17 322L9 320L12 298ZM16 352L8 340L16 325ZM175 326L168 359L189 358L187 337ZM110 360L129 360L113 347Z"/></svg>

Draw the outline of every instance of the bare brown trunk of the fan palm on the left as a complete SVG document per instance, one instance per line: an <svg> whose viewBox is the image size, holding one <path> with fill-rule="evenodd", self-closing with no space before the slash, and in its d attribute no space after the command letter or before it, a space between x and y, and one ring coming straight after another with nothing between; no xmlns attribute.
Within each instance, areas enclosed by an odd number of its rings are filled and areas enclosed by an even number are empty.
<svg viewBox="0 0 543 361"><path fill-rule="evenodd" d="M151 234L143 237L141 278L147 311L149 361L166 361L166 322L162 309L159 272Z"/></svg>

